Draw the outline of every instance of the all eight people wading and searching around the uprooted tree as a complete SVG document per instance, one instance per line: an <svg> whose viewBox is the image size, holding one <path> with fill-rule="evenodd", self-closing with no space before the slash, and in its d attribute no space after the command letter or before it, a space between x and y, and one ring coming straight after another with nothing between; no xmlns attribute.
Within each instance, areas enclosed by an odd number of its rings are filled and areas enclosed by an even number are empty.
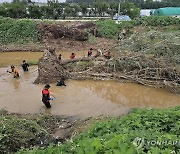
<svg viewBox="0 0 180 154"><path fill-rule="evenodd" d="M87 56L90 57L90 56L92 56L92 54L93 54L93 49L90 48L90 49L88 50ZM104 55L104 57L105 57L106 59L110 59L110 58L111 58L111 54L110 54L109 51L105 52L103 55ZM75 56L76 56L75 53L71 53L70 59L74 59ZM61 54L59 55L58 60L59 60L59 61L62 60L62 55L61 55ZM29 70L29 64L28 64L25 60L23 60L23 64L22 64L21 66L22 66L24 72L28 72L28 70ZM14 65L12 65L12 66L11 66L11 70L10 70L10 71L7 70L7 72L8 72L8 73L13 73L14 78L19 78L19 77L20 77L20 75L19 75L19 70L18 70L18 68L15 67ZM65 78L61 78L61 79L57 82L56 86L66 86L66 84L65 84L64 81L65 81ZM44 103L44 105L45 105L46 108L48 108L48 109L51 108L50 100L53 100L53 98L50 97L50 92L49 92L49 88L50 88L50 87L51 87L51 86L50 86L49 84L46 84L46 85L44 86L43 90L42 90L42 102Z"/></svg>

